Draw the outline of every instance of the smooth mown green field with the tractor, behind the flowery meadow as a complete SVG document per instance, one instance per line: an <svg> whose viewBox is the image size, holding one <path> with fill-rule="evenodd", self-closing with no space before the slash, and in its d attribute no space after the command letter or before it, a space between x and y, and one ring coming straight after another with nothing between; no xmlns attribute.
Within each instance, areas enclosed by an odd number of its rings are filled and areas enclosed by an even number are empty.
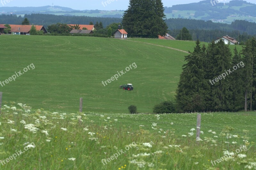
<svg viewBox="0 0 256 170"><path fill-rule="evenodd" d="M84 98L86 113L128 113L135 104L140 113L152 113L154 105L174 100L184 52L144 44L142 41L193 51L193 41L119 39L71 36L1 36L0 81L31 63L34 70L0 85L3 102L25 102L33 108L77 111ZM234 46L230 46L233 48ZM241 48L241 46L237 46ZM102 81L136 63L118 80ZM131 92L119 88L132 83Z"/></svg>

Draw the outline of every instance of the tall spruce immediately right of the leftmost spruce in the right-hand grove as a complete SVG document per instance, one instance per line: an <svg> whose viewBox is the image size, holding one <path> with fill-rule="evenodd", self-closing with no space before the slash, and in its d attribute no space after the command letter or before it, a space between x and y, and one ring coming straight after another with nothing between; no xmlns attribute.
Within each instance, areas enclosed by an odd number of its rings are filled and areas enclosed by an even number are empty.
<svg viewBox="0 0 256 170"><path fill-rule="evenodd" d="M231 92L229 91L230 72L228 70L231 68L232 53L229 46L221 39L216 44L209 45L207 56L212 62L209 63L211 67L208 67L208 71L210 72L208 74L211 75L209 77L210 83L209 81L208 83L212 86L210 93L212 96L212 109L216 111L229 110L231 107ZM230 71L232 71L232 69ZM221 75L225 78L221 77Z"/></svg>

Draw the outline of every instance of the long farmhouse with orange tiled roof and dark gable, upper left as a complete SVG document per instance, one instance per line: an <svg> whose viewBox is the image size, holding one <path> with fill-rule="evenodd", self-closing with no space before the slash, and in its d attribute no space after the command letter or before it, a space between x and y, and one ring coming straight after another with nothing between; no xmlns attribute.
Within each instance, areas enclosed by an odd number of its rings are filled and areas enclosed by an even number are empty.
<svg viewBox="0 0 256 170"><path fill-rule="evenodd" d="M30 29L32 25L10 25L11 26L11 31L9 33L12 34L19 34L19 35L27 35L30 32ZM37 26L36 27L37 31L43 31L44 33L48 33L47 30L44 28L44 26Z"/></svg>

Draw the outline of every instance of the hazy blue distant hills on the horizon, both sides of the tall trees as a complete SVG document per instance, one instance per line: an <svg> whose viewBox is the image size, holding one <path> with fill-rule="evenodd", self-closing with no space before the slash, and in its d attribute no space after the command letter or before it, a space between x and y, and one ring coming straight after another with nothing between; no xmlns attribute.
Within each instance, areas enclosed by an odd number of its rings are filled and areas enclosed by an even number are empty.
<svg viewBox="0 0 256 170"><path fill-rule="evenodd" d="M223 3L222 3L223 2ZM185 18L197 20L211 20L212 22L231 24L235 20L256 22L256 4L247 3L243 0L233 0L225 3L216 3L212 0L204 0L198 3L173 5L165 7L166 18ZM42 7L0 7L0 14L53 14L65 16L88 16L88 17L111 17L122 18L124 11L100 11L100 10L74 10L61 6Z"/></svg>

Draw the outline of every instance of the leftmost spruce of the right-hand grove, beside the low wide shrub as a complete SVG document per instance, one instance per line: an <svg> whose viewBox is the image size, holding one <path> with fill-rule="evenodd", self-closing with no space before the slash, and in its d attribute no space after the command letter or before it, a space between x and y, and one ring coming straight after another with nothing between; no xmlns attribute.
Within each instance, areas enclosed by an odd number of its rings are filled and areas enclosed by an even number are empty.
<svg viewBox="0 0 256 170"><path fill-rule="evenodd" d="M206 100L209 98L207 92L210 85L205 79L204 65L205 46L200 47L200 41L196 41L194 52L185 57L186 64L180 75L176 103L178 112L205 111Z"/></svg>

